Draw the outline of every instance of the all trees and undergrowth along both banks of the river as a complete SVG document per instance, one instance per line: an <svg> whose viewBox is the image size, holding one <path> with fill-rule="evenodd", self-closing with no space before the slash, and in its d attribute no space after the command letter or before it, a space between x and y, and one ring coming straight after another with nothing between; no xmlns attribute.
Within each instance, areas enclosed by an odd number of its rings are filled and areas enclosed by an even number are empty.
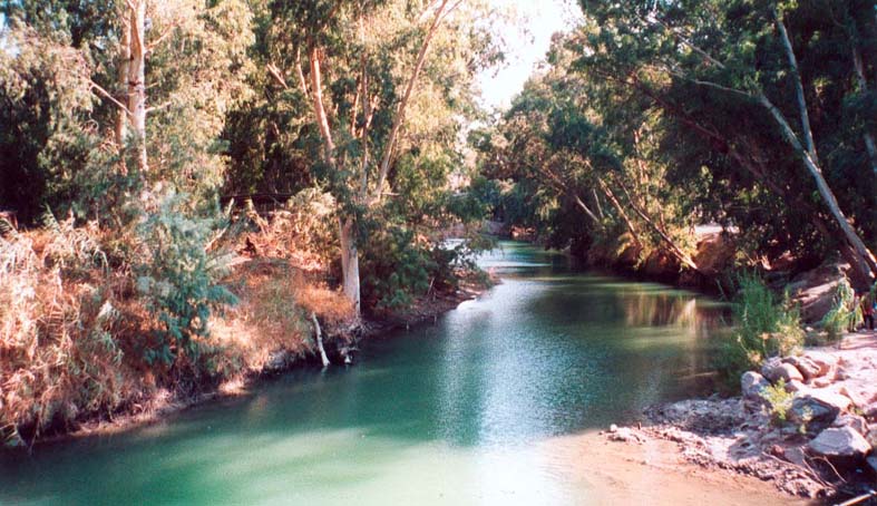
<svg viewBox="0 0 877 506"><path fill-rule="evenodd" d="M715 223L738 266L877 275L873 1L582 0L496 117L476 76L501 14L478 0L0 6L10 441L452 291L478 242L442 232L489 216L626 267L719 276L695 257ZM734 368L797 323L758 286Z"/></svg>

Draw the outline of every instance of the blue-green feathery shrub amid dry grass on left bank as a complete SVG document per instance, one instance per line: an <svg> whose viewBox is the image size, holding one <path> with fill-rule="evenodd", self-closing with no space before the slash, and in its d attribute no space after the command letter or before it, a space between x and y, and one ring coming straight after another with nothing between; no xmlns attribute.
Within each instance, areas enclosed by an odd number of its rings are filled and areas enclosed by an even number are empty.
<svg viewBox="0 0 877 506"><path fill-rule="evenodd" d="M172 194L139 227L148 259L135 266L137 290L162 324L145 350L149 363L169 366L181 357L197 362L212 311L236 302L218 284L228 256L207 250L220 220L189 217L185 208L185 196Z"/></svg>

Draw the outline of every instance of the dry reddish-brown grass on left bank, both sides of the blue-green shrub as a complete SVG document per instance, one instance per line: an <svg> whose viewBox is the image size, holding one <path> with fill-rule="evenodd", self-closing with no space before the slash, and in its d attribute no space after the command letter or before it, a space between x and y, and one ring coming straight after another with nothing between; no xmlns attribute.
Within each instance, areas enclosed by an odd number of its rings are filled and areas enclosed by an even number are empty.
<svg viewBox="0 0 877 506"><path fill-rule="evenodd" d="M325 203L309 198L257 222L263 232L233 239L238 249L249 239L272 257L237 259L224 281L240 303L212 319L204 340L213 373L203 380L211 386L261 370L279 351L313 353L312 313L330 333L352 320L347 299L320 281L331 232ZM165 389L185 397L199 388L174 376L185 364L143 359L158 322L130 270L110 269L101 250L130 242L118 231L51 216L27 233L0 222L0 446L135 413Z"/></svg>

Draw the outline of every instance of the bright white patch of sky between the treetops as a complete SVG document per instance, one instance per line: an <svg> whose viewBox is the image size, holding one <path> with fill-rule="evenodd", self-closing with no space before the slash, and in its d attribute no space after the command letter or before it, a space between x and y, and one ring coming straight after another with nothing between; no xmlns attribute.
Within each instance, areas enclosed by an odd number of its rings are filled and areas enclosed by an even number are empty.
<svg viewBox="0 0 877 506"><path fill-rule="evenodd" d="M582 16L571 0L490 0L497 8L517 11L520 26L498 26L506 39L506 64L497 72L481 72L484 104L488 107L507 108L511 99L524 88L536 65L545 59L552 35L575 26Z"/></svg>

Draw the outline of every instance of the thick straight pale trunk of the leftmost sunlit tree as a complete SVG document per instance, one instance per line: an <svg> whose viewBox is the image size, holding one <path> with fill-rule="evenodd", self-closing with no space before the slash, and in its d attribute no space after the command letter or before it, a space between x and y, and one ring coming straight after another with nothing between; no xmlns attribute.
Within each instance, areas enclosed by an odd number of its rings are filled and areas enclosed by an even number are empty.
<svg viewBox="0 0 877 506"><path fill-rule="evenodd" d="M130 61L128 65L128 111L137 140L140 177L149 169L146 159L146 0L133 0L130 9Z"/></svg>

